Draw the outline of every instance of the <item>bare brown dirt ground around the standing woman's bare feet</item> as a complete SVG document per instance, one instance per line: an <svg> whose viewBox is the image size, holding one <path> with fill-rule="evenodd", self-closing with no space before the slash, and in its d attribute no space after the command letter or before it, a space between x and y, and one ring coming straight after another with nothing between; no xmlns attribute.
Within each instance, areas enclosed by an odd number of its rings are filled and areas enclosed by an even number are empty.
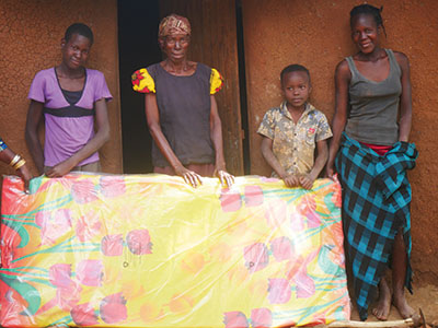
<svg viewBox="0 0 438 328"><path fill-rule="evenodd" d="M418 308L422 308L423 314L426 317L426 321L430 325L438 325L438 285L433 284L414 284L414 294L411 295L406 291L406 298L408 304L419 313ZM371 313L372 306L370 306L368 312L367 321L377 321L376 317ZM392 306L389 320L400 320L402 319L397 313L397 309ZM357 309L354 308L351 313L351 320L359 320L359 315Z"/></svg>

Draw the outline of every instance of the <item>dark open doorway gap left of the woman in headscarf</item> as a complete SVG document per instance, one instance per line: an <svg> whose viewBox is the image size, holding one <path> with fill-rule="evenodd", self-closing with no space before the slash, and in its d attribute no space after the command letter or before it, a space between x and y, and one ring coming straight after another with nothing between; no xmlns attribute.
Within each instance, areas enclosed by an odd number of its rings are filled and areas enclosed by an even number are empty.
<svg viewBox="0 0 438 328"><path fill-rule="evenodd" d="M118 57L124 173L152 172L152 138L145 115L145 96L132 91L131 74L161 60L158 46L159 0L119 0Z"/></svg>

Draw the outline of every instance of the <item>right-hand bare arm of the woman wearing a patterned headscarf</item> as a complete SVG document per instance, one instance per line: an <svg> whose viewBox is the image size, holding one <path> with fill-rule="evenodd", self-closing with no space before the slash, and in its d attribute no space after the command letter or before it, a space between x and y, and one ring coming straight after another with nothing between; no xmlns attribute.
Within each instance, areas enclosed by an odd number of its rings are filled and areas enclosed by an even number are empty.
<svg viewBox="0 0 438 328"><path fill-rule="evenodd" d="M231 186L234 183L234 177L227 172L226 160L223 156L222 143L222 122L218 113L218 105L214 95L210 95L210 139L215 147L215 173L219 177L223 186Z"/></svg>

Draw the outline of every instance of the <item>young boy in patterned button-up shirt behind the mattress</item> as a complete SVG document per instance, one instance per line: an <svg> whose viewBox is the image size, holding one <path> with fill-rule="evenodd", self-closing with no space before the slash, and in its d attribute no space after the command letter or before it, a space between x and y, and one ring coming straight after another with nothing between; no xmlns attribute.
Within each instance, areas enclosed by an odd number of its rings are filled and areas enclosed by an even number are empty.
<svg viewBox="0 0 438 328"><path fill-rule="evenodd" d="M326 140L332 137L324 114L308 103L310 73L300 65L280 74L285 102L266 112L257 133L263 136L262 154L287 187L311 189L327 161ZM314 149L316 145L316 160Z"/></svg>

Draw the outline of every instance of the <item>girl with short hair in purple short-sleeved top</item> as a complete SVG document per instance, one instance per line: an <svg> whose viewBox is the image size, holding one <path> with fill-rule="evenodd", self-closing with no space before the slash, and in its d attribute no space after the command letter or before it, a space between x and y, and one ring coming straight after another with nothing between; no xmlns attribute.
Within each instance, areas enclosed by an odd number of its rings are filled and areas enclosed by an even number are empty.
<svg viewBox="0 0 438 328"><path fill-rule="evenodd" d="M84 67L92 44L89 26L69 26L60 65L36 73L28 92L26 142L38 173L48 177L100 171L97 150L110 139L106 101L112 95L103 73ZM44 153L37 133L43 116Z"/></svg>

